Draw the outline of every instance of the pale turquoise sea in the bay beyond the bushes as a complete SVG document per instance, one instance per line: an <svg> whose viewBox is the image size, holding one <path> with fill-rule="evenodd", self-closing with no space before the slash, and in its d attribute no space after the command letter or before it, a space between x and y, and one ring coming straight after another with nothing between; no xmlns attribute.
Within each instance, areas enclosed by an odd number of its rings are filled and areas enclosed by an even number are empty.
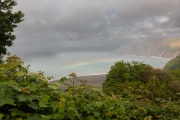
<svg viewBox="0 0 180 120"><path fill-rule="evenodd" d="M29 61L30 72L44 72L46 77L53 76L53 80L66 77L71 73L77 76L106 74L117 61L143 62L155 68L163 68L170 58L156 56L120 56L111 52L61 52L53 57L34 57Z"/></svg>

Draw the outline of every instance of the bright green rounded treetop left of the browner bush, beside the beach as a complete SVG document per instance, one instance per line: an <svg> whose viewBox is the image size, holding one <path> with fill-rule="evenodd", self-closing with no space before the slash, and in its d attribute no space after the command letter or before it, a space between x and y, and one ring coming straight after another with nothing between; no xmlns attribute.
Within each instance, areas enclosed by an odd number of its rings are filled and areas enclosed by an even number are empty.
<svg viewBox="0 0 180 120"><path fill-rule="evenodd" d="M118 84L124 81L141 81L146 64L142 62L118 61L111 67L103 83L103 91L113 92L113 88L118 89Z"/></svg>

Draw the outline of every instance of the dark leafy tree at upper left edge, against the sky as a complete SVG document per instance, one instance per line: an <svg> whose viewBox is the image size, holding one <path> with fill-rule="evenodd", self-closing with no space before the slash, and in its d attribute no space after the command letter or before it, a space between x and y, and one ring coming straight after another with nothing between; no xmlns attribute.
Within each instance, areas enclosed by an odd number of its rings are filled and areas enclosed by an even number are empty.
<svg viewBox="0 0 180 120"><path fill-rule="evenodd" d="M6 46L13 45L16 36L13 35L17 23L23 21L24 14L21 11L13 12L13 6L16 6L15 0L0 1L0 57L7 54Z"/></svg>

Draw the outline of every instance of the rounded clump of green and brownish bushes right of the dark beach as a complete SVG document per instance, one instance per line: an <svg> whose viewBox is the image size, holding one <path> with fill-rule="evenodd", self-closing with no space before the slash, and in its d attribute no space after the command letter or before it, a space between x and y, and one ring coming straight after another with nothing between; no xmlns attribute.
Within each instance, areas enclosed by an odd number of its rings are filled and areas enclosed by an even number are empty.
<svg viewBox="0 0 180 120"><path fill-rule="evenodd" d="M148 94L131 92L152 100L155 98L168 99L169 97L177 100L176 93L179 92L179 84L175 86L174 83L177 82L164 70L154 69L152 66L142 63L132 62L130 64L121 61L111 67L107 79L103 83L103 91L106 94L123 95L124 90L128 87L139 89L140 86L144 86L145 91L150 91L147 92Z"/></svg>

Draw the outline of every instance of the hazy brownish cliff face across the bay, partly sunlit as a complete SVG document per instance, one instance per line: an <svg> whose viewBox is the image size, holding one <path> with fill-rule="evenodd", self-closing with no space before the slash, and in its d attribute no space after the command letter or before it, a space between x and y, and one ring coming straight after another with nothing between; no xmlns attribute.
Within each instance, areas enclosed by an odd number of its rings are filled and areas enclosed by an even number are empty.
<svg viewBox="0 0 180 120"><path fill-rule="evenodd" d="M114 53L119 55L157 56L175 58L180 54L180 38L143 41L119 47Z"/></svg>

